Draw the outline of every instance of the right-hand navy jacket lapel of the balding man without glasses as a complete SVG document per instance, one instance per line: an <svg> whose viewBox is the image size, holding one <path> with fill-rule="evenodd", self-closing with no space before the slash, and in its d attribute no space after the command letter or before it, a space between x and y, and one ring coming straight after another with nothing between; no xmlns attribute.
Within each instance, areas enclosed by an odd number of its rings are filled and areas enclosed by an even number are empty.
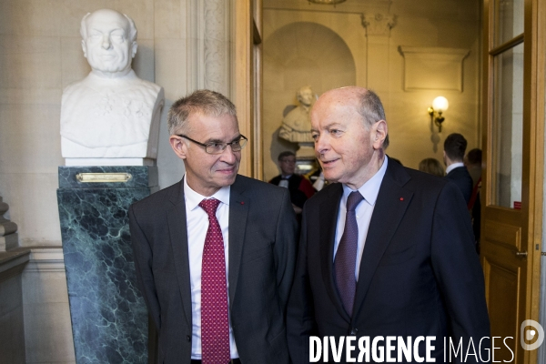
<svg viewBox="0 0 546 364"><path fill-rule="evenodd" d="M389 161L369 221L368 236L360 260L353 317L358 315L379 261L410 204L413 193L402 187L409 179L403 167Z"/></svg>

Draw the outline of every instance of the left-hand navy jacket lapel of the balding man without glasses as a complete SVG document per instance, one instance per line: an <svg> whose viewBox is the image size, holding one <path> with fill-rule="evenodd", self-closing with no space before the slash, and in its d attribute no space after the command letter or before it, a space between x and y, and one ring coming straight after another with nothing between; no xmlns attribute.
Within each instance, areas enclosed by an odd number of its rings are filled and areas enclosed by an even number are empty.
<svg viewBox="0 0 546 364"><path fill-rule="evenodd" d="M320 267L322 267L322 278L330 299L338 308L339 314L347 322L350 322L349 315L343 308L341 298L339 298L338 288L336 288L334 280L334 242L338 224L339 200L342 195L343 187L341 187L341 184L332 186L329 190L329 198L322 202L319 207Z"/></svg>

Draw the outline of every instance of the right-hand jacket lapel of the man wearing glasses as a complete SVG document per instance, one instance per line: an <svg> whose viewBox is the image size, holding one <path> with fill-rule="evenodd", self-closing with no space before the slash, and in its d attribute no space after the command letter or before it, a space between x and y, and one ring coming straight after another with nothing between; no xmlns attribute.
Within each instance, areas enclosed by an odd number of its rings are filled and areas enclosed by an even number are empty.
<svg viewBox="0 0 546 364"><path fill-rule="evenodd" d="M233 307L235 292L237 290L238 272L243 254L243 242L247 227L248 206L251 203L248 197L243 197L244 187L238 182L231 185L229 191L229 259L228 277L229 282L229 306Z"/></svg>

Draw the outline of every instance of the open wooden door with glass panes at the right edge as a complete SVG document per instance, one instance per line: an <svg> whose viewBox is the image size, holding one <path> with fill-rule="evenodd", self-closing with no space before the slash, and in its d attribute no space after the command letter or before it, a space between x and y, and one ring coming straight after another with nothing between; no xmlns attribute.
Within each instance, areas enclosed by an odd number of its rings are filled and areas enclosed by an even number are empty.
<svg viewBox="0 0 546 364"><path fill-rule="evenodd" d="M536 363L521 323L539 318L544 1L484 1L481 263L495 360ZM535 338L536 339L536 338ZM527 343L531 343L526 341ZM512 359L513 357L513 359Z"/></svg>

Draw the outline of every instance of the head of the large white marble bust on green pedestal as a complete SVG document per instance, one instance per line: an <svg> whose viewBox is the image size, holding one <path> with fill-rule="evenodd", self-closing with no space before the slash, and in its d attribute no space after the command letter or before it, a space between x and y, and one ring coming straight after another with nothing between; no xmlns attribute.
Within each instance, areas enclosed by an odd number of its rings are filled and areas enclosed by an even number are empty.
<svg viewBox="0 0 546 364"><path fill-rule="evenodd" d="M109 78L129 73L136 55L136 26L130 17L110 9L87 13L80 34L93 73Z"/></svg>

